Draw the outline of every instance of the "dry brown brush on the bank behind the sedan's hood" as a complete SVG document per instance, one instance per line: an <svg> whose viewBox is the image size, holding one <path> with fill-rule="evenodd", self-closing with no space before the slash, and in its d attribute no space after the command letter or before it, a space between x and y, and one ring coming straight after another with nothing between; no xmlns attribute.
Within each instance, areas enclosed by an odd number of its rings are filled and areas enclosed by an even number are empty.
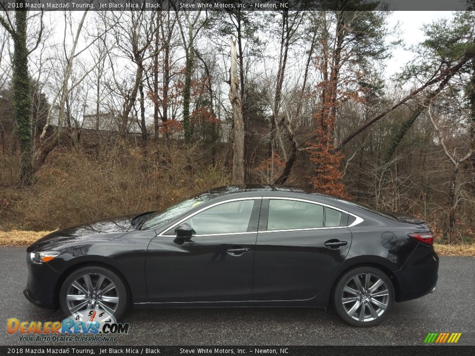
<svg viewBox="0 0 475 356"><path fill-rule="evenodd" d="M128 213L160 210L229 182L226 170L206 165L199 147L160 151L119 145L91 156L56 150L29 188L0 190L0 229L53 230Z"/></svg>

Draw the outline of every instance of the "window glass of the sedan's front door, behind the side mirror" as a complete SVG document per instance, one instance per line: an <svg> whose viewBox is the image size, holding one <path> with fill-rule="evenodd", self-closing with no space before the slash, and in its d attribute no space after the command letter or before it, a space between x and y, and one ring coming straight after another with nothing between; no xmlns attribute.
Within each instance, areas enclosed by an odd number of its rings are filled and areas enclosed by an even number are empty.
<svg viewBox="0 0 475 356"><path fill-rule="evenodd" d="M223 203L198 213L183 223L188 223L196 235L217 235L246 232L251 218L254 200L238 200ZM166 235L174 235L174 228Z"/></svg>

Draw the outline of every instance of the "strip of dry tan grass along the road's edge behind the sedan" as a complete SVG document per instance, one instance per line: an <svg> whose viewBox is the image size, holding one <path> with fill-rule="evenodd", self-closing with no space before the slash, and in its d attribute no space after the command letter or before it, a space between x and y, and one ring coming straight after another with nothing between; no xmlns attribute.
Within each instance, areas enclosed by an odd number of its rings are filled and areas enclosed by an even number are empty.
<svg viewBox="0 0 475 356"><path fill-rule="evenodd" d="M50 231L0 231L0 246L28 246L42 238ZM474 256L475 244L470 245L434 245L435 251L440 256Z"/></svg>

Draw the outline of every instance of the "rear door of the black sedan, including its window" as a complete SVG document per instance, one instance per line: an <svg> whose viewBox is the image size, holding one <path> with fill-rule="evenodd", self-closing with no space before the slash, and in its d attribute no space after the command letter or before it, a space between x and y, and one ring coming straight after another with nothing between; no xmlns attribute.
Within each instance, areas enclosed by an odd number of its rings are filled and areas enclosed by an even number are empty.
<svg viewBox="0 0 475 356"><path fill-rule="evenodd" d="M254 300L318 294L348 254L348 214L313 201L263 199L256 242Z"/></svg>

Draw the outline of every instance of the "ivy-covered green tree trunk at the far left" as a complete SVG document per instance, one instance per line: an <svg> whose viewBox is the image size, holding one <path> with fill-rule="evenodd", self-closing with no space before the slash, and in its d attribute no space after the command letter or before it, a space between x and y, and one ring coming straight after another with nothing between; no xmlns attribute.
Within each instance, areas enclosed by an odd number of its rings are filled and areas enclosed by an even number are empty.
<svg viewBox="0 0 475 356"><path fill-rule="evenodd" d="M25 1L23 8L25 8ZM18 3L17 3L18 5ZM13 36L13 112L15 114L14 132L20 145L20 182L30 184L34 175L33 151L31 141L31 96L28 73L27 17L22 10L15 11L15 33Z"/></svg>

